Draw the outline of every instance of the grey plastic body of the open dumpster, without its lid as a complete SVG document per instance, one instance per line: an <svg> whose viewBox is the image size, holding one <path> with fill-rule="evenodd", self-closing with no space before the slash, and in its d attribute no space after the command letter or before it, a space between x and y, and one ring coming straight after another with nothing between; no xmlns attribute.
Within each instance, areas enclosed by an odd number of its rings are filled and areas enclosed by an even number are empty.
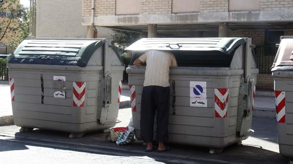
<svg viewBox="0 0 293 164"><path fill-rule="evenodd" d="M185 52L181 51L182 53L180 53L180 50L170 51L173 52L178 62L177 68L170 69L168 140L170 143L223 149L228 145L248 138L254 101L252 97L255 91L258 69L252 57L249 78L254 80L248 85L244 78L246 71L243 61L246 56L243 53L244 49L244 43L236 46L230 58L230 63L227 66L219 64L221 67L208 65L208 62L204 63L207 67L180 67L180 62L184 64L184 61L181 60L186 60L184 56L180 55ZM203 52L205 55L215 53L215 51L200 51L200 54ZM196 59L196 50L188 54L193 53ZM215 56L220 60L223 57L221 55L225 56L225 54ZM192 63L192 61L189 62ZM136 137L141 139L140 109L145 67L129 66L126 71L130 88L135 88L132 119ZM202 97L197 98L194 97L193 89L198 85L204 88L201 91L205 92L206 95L199 95ZM248 105L248 97L250 97L250 106ZM250 110L249 114L246 114L248 110Z"/></svg>

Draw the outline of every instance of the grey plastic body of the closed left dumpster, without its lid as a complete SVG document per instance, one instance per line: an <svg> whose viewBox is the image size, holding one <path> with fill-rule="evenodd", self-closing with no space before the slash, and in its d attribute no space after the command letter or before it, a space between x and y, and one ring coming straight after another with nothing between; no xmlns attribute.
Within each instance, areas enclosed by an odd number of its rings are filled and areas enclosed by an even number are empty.
<svg viewBox="0 0 293 164"><path fill-rule="evenodd" d="M119 110L119 81L122 80L124 66L114 50L109 50L111 104L102 116L105 123L101 123L101 111L105 108L103 52L103 46L93 50L85 67L8 63L10 85L14 90L12 110L15 125L72 134L115 126Z"/></svg>

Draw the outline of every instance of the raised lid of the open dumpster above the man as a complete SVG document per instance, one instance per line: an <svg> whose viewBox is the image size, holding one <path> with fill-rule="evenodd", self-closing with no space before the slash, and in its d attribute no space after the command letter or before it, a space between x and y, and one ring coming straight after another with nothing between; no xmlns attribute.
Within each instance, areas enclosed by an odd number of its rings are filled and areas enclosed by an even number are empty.
<svg viewBox="0 0 293 164"><path fill-rule="evenodd" d="M143 38L125 50L220 51L230 54L245 38Z"/></svg>

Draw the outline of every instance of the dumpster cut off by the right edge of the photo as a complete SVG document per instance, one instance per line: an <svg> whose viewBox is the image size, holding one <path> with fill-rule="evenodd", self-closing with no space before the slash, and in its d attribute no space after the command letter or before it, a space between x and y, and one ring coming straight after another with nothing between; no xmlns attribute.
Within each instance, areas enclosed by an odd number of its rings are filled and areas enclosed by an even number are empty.
<svg viewBox="0 0 293 164"><path fill-rule="evenodd" d="M293 158L293 36L281 37L272 67L280 154ZM293 162L293 161L291 161Z"/></svg>

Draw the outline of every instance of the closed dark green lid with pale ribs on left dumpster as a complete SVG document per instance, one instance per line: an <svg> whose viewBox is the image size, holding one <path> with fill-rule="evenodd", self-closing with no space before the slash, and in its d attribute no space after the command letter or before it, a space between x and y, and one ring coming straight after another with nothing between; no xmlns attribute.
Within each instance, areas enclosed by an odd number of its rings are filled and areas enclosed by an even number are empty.
<svg viewBox="0 0 293 164"><path fill-rule="evenodd" d="M78 65L85 67L103 45L97 39L26 39L13 52L9 63Z"/></svg>

